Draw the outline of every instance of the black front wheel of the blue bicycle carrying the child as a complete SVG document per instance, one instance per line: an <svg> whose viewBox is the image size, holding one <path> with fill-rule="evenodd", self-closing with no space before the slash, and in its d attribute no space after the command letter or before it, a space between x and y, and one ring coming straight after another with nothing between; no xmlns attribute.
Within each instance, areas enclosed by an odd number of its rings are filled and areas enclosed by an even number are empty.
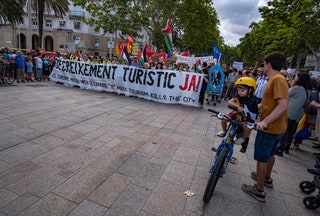
<svg viewBox="0 0 320 216"><path fill-rule="evenodd" d="M220 173L223 169L223 165L227 158L227 154L228 154L228 147L227 146L222 147L220 154L217 157L216 162L214 164L210 178L208 180L206 190L204 191L204 194L203 194L202 200L204 203L208 203L212 197L212 193L220 178Z"/></svg>

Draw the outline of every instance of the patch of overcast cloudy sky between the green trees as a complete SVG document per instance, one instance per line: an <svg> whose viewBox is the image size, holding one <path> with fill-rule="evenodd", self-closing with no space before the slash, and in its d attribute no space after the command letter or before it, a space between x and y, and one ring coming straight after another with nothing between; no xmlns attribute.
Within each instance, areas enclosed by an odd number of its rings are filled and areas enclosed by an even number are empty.
<svg viewBox="0 0 320 216"><path fill-rule="evenodd" d="M251 22L261 19L258 8L267 0L213 0L220 26L219 30L227 45L236 46L239 39L250 31Z"/></svg>

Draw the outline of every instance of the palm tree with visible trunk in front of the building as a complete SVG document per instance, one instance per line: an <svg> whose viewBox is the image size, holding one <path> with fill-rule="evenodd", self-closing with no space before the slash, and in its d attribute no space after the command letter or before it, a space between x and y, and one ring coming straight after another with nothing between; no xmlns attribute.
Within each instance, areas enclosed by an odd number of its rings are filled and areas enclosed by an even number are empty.
<svg viewBox="0 0 320 216"><path fill-rule="evenodd" d="M42 34L43 34L43 14L45 9L47 11L53 10L55 15L63 17L69 10L68 0L30 0L32 1L32 9L36 11L38 15L39 24L39 48L42 46Z"/></svg>

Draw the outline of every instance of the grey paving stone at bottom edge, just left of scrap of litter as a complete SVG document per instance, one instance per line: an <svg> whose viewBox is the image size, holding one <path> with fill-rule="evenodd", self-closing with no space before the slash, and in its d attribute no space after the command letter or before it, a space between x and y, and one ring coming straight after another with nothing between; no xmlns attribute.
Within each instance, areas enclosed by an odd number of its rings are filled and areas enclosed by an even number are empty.
<svg viewBox="0 0 320 216"><path fill-rule="evenodd" d="M143 210L154 215L182 215L186 197L186 187L159 181Z"/></svg>

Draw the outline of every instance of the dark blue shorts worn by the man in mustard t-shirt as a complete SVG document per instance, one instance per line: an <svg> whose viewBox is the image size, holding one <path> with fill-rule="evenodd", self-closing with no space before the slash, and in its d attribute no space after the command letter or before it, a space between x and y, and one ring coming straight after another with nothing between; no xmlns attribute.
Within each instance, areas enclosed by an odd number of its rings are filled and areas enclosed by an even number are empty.
<svg viewBox="0 0 320 216"><path fill-rule="evenodd" d="M254 143L254 159L262 163L267 163L269 158L274 156L282 135L283 134L269 134L258 131Z"/></svg>

